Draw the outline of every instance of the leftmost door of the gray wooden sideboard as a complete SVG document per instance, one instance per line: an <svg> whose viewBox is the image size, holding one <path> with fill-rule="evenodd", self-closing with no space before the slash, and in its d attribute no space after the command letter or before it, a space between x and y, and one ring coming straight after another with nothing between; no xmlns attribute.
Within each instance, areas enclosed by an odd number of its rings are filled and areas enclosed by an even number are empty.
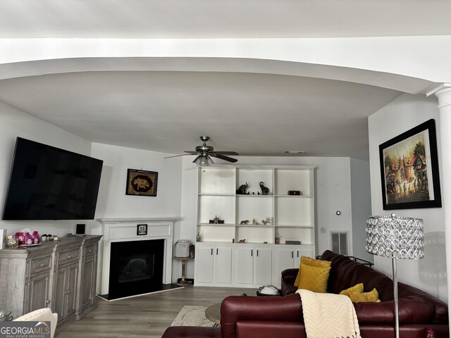
<svg viewBox="0 0 451 338"><path fill-rule="evenodd" d="M30 284L25 285L27 299L25 299L24 313L49 306L49 274L30 278Z"/></svg>

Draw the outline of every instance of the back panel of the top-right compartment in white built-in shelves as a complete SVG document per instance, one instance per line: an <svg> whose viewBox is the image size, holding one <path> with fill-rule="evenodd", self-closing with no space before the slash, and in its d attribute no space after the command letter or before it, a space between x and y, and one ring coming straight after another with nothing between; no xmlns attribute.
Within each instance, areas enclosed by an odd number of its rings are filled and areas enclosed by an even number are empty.
<svg viewBox="0 0 451 338"><path fill-rule="evenodd" d="M276 195L287 195L289 190L299 190L312 195L311 170L275 169Z"/></svg>

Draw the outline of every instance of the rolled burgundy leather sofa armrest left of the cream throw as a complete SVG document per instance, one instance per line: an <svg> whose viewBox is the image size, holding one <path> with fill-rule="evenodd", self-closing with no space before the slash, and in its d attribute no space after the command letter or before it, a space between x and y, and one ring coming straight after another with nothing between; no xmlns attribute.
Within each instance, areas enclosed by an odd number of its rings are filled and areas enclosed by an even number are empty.
<svg viewBox="0 0 451 338"><path fill-rule="evenodd" d="M299 296L228 296L223 300L221 337L236 338L237 323L248 320L303 323L301 299Z"/></svg>

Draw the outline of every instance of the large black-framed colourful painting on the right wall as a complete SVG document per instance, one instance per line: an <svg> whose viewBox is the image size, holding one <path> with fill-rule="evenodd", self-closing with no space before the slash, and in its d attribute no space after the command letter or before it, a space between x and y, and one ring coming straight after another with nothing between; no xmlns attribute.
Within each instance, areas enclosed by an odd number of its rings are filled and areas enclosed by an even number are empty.
<svg viewBox="0 0 451 338"><path fill-rule="evenodd" d="M435 120L379 146L383 209L440 208Z"/></svg>

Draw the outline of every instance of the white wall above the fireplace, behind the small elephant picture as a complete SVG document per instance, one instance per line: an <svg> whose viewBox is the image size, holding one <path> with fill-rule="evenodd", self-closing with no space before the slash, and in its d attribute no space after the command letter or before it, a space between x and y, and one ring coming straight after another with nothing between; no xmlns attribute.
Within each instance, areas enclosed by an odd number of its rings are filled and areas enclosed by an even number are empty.
<svg viewBox="0 0 451 338"><path fill-rule="evenodd" d="M170 155L156 151L93 143L91 156L104 160L96 219L180 216L182 161L180 158L164 159L165 156ZM156 196L126 195L125 183L128 168L156 171L158 173ZM103 233L101 223L97 223L97 228L93 232ZM179 222L174 225L173 238L175 242L180 239ZM180 269L180 262L173 261L173 281L181 275Z"/></svg>

